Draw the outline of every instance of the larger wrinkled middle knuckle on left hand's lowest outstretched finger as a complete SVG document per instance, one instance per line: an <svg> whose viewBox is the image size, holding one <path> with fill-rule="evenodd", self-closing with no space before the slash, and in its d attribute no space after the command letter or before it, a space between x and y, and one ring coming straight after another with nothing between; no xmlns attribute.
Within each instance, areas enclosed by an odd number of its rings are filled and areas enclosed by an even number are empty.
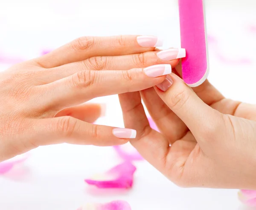
<svg viewBox="0 0 256 210"><path fill-rule="evenodd" d="M76 128L76 120L70 116L59 118L57 122L57 130L62 136L69 137L74 133Z"/></svg>

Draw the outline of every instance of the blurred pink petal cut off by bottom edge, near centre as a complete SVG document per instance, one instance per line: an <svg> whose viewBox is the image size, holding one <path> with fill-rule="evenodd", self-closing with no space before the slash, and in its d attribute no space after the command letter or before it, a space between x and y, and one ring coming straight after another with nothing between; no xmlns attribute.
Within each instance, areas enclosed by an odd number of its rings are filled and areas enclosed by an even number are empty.
<svg viewBox="0 0 256 210"><path fill-rule="evenodd" d="M105 204L86 204L77 210L131 210L131 206L126 201L112 201Z"/></svg>

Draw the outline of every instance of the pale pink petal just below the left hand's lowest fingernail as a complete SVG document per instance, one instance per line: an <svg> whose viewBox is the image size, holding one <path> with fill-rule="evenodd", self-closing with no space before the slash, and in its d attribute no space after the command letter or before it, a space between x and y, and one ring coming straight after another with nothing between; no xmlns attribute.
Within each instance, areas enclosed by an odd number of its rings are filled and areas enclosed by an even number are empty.
<svg viewBox="0 0 256 210"><path fill-rule="evenodd" d="M116 145L113 146L113 148L116 150L117 154L125 161L142 161L144 158L140 155L137 150L134 149L134 147L131 146L131 144L125 144L125 145ZM129 148L132 149L132 151L129 150Z"/></svg>

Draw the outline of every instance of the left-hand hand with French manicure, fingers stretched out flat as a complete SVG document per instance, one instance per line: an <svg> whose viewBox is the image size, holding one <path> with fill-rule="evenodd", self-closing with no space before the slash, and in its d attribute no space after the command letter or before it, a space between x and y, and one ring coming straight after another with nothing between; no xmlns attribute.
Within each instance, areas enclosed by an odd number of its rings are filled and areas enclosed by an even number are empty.
<svg viewBox="0 0 256 210"><path fill-rule="evenodd" d="M41 145L109 146L134 138L131 129L90 124L100 108L81 104L161 83L178 60L160 60L152 52L157 43L147 36L82 37L1 72L0 161ZM166 65L143 69L160 63Z"/></svg>

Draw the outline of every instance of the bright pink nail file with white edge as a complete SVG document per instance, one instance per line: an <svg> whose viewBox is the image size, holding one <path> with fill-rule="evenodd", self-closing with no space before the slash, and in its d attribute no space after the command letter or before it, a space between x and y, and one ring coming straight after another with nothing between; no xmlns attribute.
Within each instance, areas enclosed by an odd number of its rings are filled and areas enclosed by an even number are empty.
<svg viewBox="0 0 256 210"><path fill-rule="evenodd" d="M207 32L203 0L179 0L183 81L191 87L201 85L209 74Z"/></svg>

